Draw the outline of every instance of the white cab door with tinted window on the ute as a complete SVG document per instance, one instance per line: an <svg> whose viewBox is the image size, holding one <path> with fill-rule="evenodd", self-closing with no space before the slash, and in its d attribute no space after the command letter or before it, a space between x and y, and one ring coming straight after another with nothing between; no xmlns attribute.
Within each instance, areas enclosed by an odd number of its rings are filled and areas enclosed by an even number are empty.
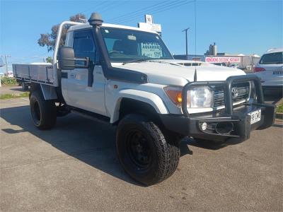
<svg viewBox="0 0 283 212"><path fill-rule="evenodd" d="M96 51L93 32L91 30L78 30L74 31L73 37L75 57L88 57L93 70L74 69L68 71L67 90L69 102L67 104L106 115L104 98L105 77L102 67L96 64L96 60L99 61L99 54ZM88 85L89 71L93 73L91 75L93 77L92 85Z"/></svg>

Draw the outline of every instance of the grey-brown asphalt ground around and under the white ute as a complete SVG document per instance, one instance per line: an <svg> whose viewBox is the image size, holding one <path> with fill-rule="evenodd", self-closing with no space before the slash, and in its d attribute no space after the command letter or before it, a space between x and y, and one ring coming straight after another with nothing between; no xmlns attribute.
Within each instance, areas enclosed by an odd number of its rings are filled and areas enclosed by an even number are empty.
<svg viewBox="0 0 283 212"><path fill-rule="evenodd" d="M0 211L283 211L282 122L243 143L181 143L180 164L143 187L115 155L115 129L70 114L33 126L27 98L1 100Z"/></svg>

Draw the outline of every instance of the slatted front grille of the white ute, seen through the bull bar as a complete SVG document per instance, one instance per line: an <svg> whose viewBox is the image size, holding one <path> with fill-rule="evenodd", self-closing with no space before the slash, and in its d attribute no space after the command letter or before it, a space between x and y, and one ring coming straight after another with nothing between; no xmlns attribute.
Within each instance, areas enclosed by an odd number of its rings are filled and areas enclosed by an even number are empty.
<svg viewBox="0 0 283 212"><path fill-rule="evenodd" d="M236 83L233 84L232 89L236 88L238 95L232 96L233 103L241 102L243 100L247 100L250 95L250 83ZM214 107L220 107L225 105L224 99L224 88L223 87L215 87L214 88Z"/></svg>

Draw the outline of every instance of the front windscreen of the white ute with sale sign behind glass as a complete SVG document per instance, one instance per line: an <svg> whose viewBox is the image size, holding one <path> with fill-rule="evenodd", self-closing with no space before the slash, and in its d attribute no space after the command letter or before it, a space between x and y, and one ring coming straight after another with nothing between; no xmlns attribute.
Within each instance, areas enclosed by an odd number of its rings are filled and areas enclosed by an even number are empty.
<svg viewBox="0 0 283 212"><path fill-rule="evenodd" d="M122 28L101 28L111 62L139 59L173 59L161 37L155 33Z"/></svg>

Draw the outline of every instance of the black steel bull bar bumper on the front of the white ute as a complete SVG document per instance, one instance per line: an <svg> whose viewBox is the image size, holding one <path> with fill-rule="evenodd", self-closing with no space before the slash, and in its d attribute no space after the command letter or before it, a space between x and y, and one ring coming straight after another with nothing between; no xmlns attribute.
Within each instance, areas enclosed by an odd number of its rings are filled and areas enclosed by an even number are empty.
<svg viewBox="0 0 283 212"><path fill-rule="evenodd" d="M257 102L244 103L233 107L231 98L232 84L235 82L253 81ZM193 86L223 85L225 93L225 109L201 114L189 114L187 112L187 90ZM250 124L250 112L261 110L260 121ZM256 76L231 76L224 82L193 82L188 83L183 90L183 114L160 114L161 122L166 129L174 131L183 136L192 136L196 139L211 141L227 141L234 139L245 141L250 138L250 131L254 129L265 129L272 126L275 120L275 105L264 103L260 79ZM203 123L207 129L202 129ZM216 126L232 126L231 131L221 133Z"/></svg>

